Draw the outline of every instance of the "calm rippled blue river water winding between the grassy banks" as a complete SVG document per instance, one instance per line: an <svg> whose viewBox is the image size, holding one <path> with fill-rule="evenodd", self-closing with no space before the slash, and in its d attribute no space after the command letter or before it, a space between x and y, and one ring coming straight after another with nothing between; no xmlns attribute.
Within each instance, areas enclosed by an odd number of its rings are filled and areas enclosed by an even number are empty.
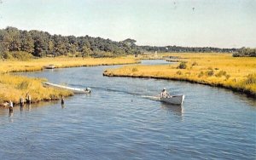
<svg viewBox="0 0 256 160"><path fill-rule="evenodd" d="M165 63L161 60L143 64ZM90 87L14 113L0 109L1 159L255 159L256 101L226 89L155 79L102 77L96 66L20 73ZM148 100L166 87L183 107Z"/></svg>

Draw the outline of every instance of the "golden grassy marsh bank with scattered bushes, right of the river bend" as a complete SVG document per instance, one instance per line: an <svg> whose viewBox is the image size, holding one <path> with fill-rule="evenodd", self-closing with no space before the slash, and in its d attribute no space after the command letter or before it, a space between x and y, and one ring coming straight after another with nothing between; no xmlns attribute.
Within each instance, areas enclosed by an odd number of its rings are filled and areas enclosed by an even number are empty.
<svg viewBox="0 0 256 160"><path fill-rule="evenodd" d="M231 54L160 54L160 58L170 56L180 62L161 66L123 66L103 74L202 83L256 97L256 58L235 58Z"/></svg>

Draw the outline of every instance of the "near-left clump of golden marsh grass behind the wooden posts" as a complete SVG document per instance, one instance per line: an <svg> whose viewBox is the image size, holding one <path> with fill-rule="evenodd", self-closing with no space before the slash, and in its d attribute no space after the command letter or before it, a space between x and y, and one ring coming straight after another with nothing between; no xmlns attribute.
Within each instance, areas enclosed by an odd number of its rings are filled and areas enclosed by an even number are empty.
<svg viewBox="0 0 256 160"><path fill-rule="evenodd" d="M44 79L14 76L1 74L0 76L0 104L12 100L18 104L20 98L26 98L26 94L31 94L32 102L40 100L58 100L61 95L69 96L73 93L67 90L44 88Z"/></svg>

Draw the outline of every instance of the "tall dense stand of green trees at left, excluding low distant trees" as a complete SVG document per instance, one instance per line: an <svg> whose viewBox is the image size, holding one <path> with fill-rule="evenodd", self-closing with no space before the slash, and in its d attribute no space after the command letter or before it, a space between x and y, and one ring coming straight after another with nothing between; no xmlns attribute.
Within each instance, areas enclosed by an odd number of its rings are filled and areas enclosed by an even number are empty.
<svg viewBox="0 0 256 160"><path fill-rule="evenodd" d="M135 41L136 42L136 41ZM83 56L113 57L139 54L139 49L130 39L114 42L101 37L74 37L51 35L46 31L21 31L15 27L0 30L0 57L10 53L29 53L33 56Z"/></svg>

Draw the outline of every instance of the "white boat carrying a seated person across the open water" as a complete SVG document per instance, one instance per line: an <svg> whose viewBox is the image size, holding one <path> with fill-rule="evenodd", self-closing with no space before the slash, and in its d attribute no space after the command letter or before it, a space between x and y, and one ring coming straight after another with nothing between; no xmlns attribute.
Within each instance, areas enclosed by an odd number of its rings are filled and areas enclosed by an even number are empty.
<svg viewBox="0 0 256 160"><path fill-rule="evenodd" d="M166 98L160 96L143 96L144 98L148 98L150 100L158 100L161 102L165 102L172 105L182 105L183 100L185 99L185 95L172 95Z"/></svg>

